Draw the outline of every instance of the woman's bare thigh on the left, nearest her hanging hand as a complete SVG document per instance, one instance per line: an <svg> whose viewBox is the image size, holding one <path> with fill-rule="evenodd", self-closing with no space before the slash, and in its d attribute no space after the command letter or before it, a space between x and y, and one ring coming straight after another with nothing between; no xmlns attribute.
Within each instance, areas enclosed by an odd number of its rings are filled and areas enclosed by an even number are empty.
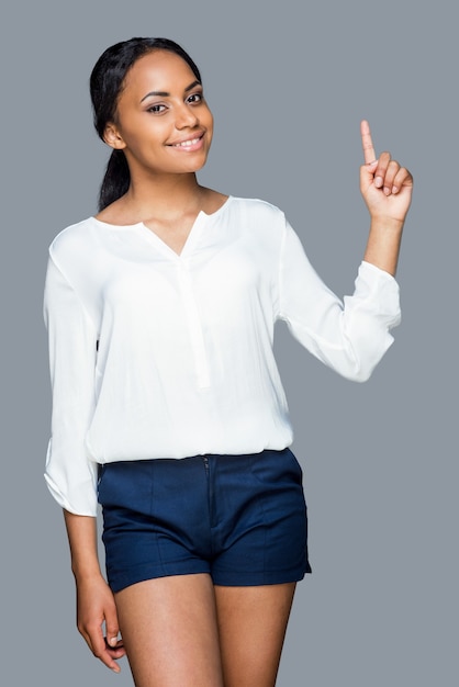
<svg viewBox="0 0 459 687"><path fill-rule="evenodd" d="M115 599L136 687L223 687L209 575L141 582ZM261 687L257 682L250 687L255 685Z"/></svg>

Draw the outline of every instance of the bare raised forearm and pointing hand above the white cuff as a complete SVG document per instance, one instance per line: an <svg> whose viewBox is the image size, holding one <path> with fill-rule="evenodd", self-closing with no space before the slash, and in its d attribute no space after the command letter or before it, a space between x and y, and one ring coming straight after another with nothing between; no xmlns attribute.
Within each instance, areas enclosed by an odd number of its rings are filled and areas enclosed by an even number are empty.
<svg viewBox="0 0 459 687"><path fill-rule="evenodd" d="M371 216L363 260L394 275L413 177L391 158L390 153L381 153L377 159L367 121L361 122L360 133L365 156L365 165L360 168L360 191Z"/></svg>

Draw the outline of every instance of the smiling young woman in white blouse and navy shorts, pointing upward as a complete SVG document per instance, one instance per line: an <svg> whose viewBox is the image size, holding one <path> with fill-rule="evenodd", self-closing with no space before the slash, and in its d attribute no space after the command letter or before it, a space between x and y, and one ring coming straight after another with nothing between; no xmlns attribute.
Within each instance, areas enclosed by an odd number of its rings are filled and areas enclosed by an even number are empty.
<svg viewBox="0 0 459 687"><path fill-rule="evenodd" d="M53 241L45 289L46 481L65 513L78 628L113 671L126 653L137 687L270 687L311 570L273 326L368 379L400 317L412 177L376 158L362 122L371 224L344 306L280 210L198 183L213 122L180 46L110 47L91 97L113 149L100 211Z"/></svg>

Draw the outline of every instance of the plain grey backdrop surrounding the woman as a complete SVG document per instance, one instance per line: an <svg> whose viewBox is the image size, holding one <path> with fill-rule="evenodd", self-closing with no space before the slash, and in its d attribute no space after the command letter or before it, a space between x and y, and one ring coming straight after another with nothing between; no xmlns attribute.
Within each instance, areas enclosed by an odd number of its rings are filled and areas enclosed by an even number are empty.
<svg viewBox="0 0 459 687"><path fill-rule="evenodd" d="M1 26L1 651L9 687L131 685L74 626L43 465L46 251L94 212L107 151L87 81L109 45L166 35L200 65L216 127L203 183L280 205L324 280L352 289L368 227L359 121L416 181L403 324L363 385L282 328L314 573L299 586L279 687L458 680L457 20L454 2L16 2ZM256 687L256 686L254 686Z"/></svg>

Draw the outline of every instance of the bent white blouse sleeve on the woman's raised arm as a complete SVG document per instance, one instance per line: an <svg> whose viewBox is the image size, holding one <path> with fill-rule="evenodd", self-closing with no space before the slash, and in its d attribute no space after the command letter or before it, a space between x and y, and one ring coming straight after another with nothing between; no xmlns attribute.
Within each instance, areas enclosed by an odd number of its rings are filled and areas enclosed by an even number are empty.
<svg viewBox="0 0 459 687"><path fill-rule="evenodd" d="M280 313L293 336L343 376L368 380L400 323L399 286L389 273L362 262L344 303L311 267L296 234L286 225L279 273Z"/></svg>

